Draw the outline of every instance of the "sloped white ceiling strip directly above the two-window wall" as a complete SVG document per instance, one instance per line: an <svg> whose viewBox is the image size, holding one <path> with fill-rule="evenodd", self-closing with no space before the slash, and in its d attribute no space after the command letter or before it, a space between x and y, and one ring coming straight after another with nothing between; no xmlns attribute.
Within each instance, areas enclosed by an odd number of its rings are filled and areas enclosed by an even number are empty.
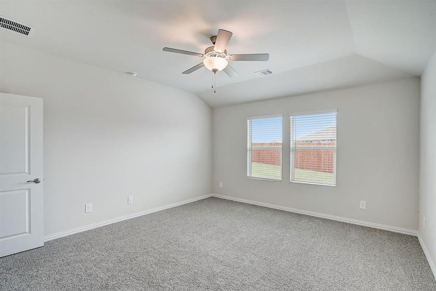
<svg viewBox="0 0 436 291"><path fill-rule="evenodd" d="M206 90L197 95L209 106L221 107L259 101L267 99L266 96L270 99L344 89L375 82L413 78L413 75L355 54L260 78L219 87L217 93Z"/></svg>

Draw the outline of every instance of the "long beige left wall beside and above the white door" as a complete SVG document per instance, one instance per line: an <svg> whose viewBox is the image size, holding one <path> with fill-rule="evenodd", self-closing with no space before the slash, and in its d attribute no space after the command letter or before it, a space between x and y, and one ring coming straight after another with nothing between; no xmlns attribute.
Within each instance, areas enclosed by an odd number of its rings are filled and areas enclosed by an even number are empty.
<svg viewBox="0 0 436 291"><path fill-rule="evenodd" d="M211 192L194 94L9 44L0 58L1 92L44 98L45 235Z"/></svg>

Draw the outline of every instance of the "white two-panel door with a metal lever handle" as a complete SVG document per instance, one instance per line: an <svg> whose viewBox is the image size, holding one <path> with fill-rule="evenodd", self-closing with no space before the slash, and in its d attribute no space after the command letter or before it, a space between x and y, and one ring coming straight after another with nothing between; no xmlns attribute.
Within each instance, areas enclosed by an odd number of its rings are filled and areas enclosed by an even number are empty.
<svg viewBox="0 0 436 291"><path fill-rule="evenodd" d="M0 257L44 244L42 99L0 93Z"/></svg>

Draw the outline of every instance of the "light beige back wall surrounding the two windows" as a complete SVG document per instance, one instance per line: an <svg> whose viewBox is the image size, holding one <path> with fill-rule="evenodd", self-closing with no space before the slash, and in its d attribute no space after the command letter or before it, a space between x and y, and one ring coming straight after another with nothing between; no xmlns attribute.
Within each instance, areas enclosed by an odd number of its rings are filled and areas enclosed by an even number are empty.
<svg viewBox="0 0 436 291"><path fill-rule="evenodd" d="M336 187L289 183L287 118L283 181L247 178L246 116L330 108L337 108ZM418 162L419 79L213 110L216 194L416 230Z"/></svg>

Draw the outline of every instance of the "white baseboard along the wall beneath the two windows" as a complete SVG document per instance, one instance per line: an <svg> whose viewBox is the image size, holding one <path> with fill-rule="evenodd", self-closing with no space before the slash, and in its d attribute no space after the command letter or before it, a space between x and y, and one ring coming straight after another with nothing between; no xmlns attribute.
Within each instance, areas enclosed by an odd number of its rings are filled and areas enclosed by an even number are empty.
<svg viewBox="0 0 436 291"><path fill-rule="evenodd" d="M217 198L228 199L228 200L233 200L233 201L237 201L237 202L248 203L248 204L278 209L278 210L285 210L288 212L300 213L300 214L310 215L310 216L315 216L315 217L320 217L320 218L326 218L326 219L330 219L330 220L351 223L351 224L355 224L355 225L359 225L359 226L368 226L368 227L373 227L373 228L378 228L378 229L383 229L383 230L388 230L388 231L393 231L393 232L399 232L399 233L413 235L413 236L418 235L418 232L416 230L397 227L397 226L386 226L386 225L381 225L381 224L362 221L362 220L356 220L356 219L351 219L351 218L345 218L345 217L340 217L340 216L319 213L319 212L295 209L295 208L279 206L279 205L274 205L274 204L269 204L269 203L257 202L257 201L242 199L242 198L236 198L236 197L232 197L232 196L225 196L225 195L219 195L219 194L211 194L211 195L213 197L217 197Z"/></svg>

